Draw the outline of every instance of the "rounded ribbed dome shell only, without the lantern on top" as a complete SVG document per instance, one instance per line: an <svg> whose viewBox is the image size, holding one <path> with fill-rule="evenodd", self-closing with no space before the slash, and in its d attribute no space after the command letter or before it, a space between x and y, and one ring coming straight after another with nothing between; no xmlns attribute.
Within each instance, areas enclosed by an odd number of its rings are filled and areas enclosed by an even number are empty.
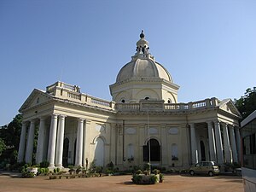
<svg viewBox="0 0 256 192"><path fill-rule="evenodd" d="M149 58L137 58L121 68L116 82L131 78L159 78L172 83L172 77L166 68Z"/></svg>

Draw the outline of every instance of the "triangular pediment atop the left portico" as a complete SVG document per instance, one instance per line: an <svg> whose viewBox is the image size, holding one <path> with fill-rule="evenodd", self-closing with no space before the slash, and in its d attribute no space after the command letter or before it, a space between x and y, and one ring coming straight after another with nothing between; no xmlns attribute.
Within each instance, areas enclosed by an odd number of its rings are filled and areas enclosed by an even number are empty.
<svg viewBox="0 0 256 192"><path fill-rule="evenodd" d="M44 92L43 90L34 89L19 109L19 112L21 113L27 108L36 107L42 103L49 102L50 100L52 100L52 96L50 96L48 93Z"/></svg>

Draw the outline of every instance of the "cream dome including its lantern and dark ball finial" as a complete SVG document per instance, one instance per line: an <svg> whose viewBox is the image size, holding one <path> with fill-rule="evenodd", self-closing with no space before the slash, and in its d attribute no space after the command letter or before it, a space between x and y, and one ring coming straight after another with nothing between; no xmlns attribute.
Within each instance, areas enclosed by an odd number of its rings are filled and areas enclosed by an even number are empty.
<svg viewBox="0 0 256 192"><path fill-rule="evenodd" d="M116 83L131 78L159 78L172 83L170 73L160 63L154 61L154 56L148 52L148 41L144 38L143 31L140 34L140 40L137 42L137 53L131 57L118 73Z"/></svg>

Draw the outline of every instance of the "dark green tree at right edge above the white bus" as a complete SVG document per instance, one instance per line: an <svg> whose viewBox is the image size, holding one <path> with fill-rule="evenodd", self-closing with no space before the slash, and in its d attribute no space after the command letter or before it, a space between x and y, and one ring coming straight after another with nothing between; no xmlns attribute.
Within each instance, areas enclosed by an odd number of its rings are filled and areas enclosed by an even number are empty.
<svg viewBox="0 0 256 192"><path fill-rule="evenodd" d="M236 108L241 113L242 119L245 119L250 113L256 110L256 87L248 88L240 99L235 99ZM241 119L241 120L242 120Z"/></svg>

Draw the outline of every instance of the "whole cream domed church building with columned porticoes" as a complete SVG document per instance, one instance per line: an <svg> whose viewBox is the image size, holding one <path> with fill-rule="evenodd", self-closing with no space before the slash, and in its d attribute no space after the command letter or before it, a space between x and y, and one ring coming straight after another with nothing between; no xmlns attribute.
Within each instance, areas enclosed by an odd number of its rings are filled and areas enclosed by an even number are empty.
<svg viewBox="0 0 256 192"><path fill-rule="evenodd" d="M79 86L56 82L32 90L23 115L18 161L49 167L142 166L186 168L201 160L240 161L241 118L230 99L212 97L177 102L179 86L149 53L143 32L137 52L111 84L113 101L81 93Z"/></svg>

